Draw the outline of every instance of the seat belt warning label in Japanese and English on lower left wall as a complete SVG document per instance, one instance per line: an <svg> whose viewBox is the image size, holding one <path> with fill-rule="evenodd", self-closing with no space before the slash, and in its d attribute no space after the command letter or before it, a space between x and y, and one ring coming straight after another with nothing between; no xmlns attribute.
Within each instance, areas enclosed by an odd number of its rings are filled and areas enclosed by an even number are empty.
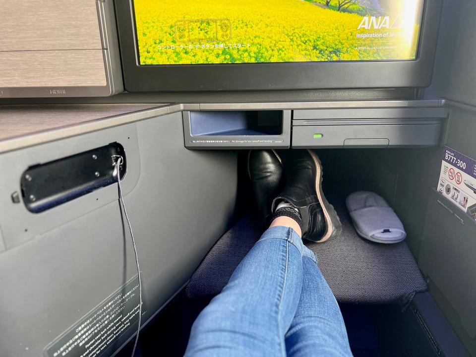
<svg viewBox="0 0 476 357"><path fill-rule="evenodd" d="M45 356L99 357L129 327L136 328L138 318L139 280L135 277L51 343Z"/></svg>

